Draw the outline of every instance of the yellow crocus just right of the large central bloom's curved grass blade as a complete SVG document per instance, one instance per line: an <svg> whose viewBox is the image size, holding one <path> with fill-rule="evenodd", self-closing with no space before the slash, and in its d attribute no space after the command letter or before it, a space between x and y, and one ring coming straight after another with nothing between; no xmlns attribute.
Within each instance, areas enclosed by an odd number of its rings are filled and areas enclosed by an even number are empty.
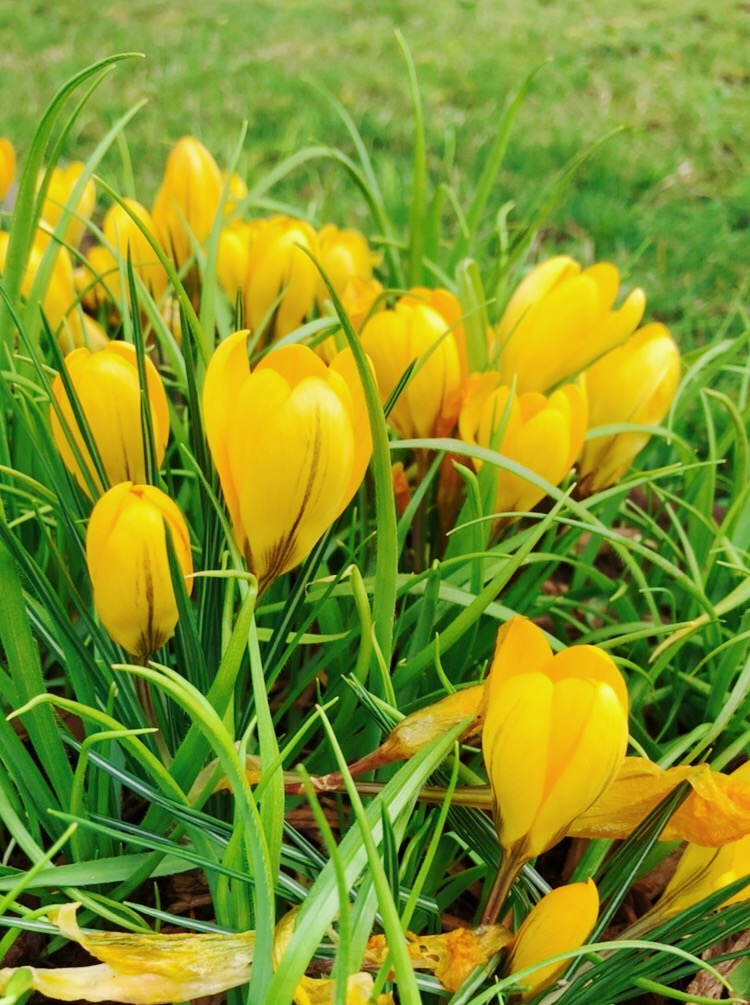
<svg viewBox="0 0 750 1005"><path fill-rule="evenodd" d="M461 384L460 356L443 318L422 304L399 303L373 315L362 345L375 366L383 403L410 364L411 378L388 420L401 436L432 436L455 421Z"/></svg>

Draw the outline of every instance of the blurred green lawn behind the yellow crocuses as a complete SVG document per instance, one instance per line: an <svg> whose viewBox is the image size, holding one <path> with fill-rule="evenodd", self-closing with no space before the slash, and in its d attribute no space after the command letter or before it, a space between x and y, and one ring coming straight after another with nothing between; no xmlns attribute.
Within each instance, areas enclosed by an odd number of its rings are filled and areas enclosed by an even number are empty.
<svg viewBox="0 0 750 1005"><path fill-rule="evenodd" d="M431 165L455 144L464 203L508 90L544 58L495 193L519 213L582 146L623 131L580 172L544 233L545 250L610 258L645 286L649 316L699 342L742 296L750 261L750 4L737 0L0 0L0 135L23 156L56 87L117 51L121 65L79 118L66 154L85 157L131 105L138 195L150 203L169 146L198 136L219 161L249 123L250 182L343 127L311 86L348 108L386 191L408 177L412 125L400 28L417 65ZM120 171L120 161L111 161ZM115 176L116 183L119 181ZM306 169L283 194L319 218L363 222L332 166ZM692 341L692 340L691 340Z"/></svg>

